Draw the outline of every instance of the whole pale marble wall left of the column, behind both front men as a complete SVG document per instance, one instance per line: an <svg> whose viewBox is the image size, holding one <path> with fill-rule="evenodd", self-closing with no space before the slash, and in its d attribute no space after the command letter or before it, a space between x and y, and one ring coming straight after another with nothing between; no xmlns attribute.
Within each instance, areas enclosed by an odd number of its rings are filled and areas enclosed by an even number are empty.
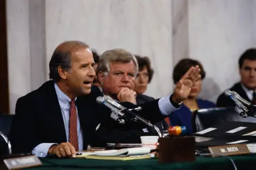
<svg viewBox="0 0 256 170"><path fill-rule="evenodd" d="M169 0L7 1L10 112L20 96L49 78L54 48L68 40L86 42L99 53L125 48L149 56L155 75L147 94L167 95L173 86L171 10Z"/></svg>

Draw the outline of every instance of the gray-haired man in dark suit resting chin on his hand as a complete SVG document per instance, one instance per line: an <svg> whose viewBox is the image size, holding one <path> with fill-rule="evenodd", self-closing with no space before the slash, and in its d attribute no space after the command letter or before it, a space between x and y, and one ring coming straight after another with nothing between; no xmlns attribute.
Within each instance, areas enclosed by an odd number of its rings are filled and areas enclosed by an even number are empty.
<svg viewBox="0 0 256 170"><path fill-rule="evenodd" d="M109 50L100 56L97 75L102 87L102 92L109 95L117 102L129 101L133 104L142 104L154 101L154 98L139 94L135 89L135 77L138 74L138 62L135 56L123 49ZM128 94L128 96L126 96ZM143 110L143 108L142 108ZM154 115L154 111L148 115ZM166 114L171 114L168 112ZM145 118L145 117L144 117ZM147 119L147 118L146 118ZM162 122L155 121L155 125L163 131ZM107 136L108 143L141 143L140 136L157 135L154 128L131 129L115 128Z"/></svg>

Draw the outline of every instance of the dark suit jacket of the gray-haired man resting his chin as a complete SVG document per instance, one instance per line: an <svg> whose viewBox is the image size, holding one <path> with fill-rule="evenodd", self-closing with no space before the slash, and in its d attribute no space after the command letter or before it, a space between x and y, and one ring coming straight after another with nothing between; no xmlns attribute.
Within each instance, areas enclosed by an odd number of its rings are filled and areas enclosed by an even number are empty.
<svg viewBox="0 0 256 170"><path fill-rule="evenodd" d="M154 98L151 98L147 95L137 94L136 102L137 104L143 104L146 102L154 101ZM143 110L143 109L142 109ZM153 111L148 112L149 115L153 115ZM155 123L155 125L162 132L167 129L167 123L164 120ZM164 127L164 129L163 129ZM113 129L109 135L107 136L108 143L141 143L140 136L149 136L149 135L158 135L155 132L154 128L147 127L148 132L143 132L142 128L138 130L130 130L123 131L122 129Z"/></svg>

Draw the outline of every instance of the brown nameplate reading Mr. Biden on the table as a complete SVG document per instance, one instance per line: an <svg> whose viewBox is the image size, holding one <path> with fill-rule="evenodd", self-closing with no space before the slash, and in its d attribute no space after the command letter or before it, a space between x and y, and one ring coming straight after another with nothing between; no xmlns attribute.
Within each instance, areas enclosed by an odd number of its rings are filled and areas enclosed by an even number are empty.
<svg viewBox="0 0 256 170"><path fill-rule="evenodd" d="M250 151L247 148L247 145L245 143L220 145L217 147L209 147L208 149L209 149L210 153L221 154L221 155L226 155L226 156L242 155L242 154L250 153ZM212 157L218 157L218 156L212 156Z"/></svg>

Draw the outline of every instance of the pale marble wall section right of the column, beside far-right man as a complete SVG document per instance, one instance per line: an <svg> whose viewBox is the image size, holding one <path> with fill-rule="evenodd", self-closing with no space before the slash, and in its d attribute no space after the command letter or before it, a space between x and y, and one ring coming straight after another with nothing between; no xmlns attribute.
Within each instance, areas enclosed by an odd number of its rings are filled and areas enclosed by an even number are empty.
<svg viewBox="0 0 256 170"><path fill-rule="evenodd" d="M188 1L189 57L206 70L201 96L216 101L239 81L238 58L256 47L256 1Z"/></svg>

